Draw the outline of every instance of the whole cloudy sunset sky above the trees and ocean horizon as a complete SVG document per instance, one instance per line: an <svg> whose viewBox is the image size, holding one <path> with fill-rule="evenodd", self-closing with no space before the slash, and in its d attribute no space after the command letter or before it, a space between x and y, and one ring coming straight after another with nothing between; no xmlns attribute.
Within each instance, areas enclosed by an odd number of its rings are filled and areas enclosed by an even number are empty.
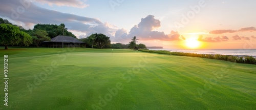
<svg viewBox="0 0 256 110"><path fill-rule="evenodd" d="M103 33L112 43L136 36L164 49L256 49L253 0L0 1L0 17L25 29L63 23L77 38Z"/></svg>

